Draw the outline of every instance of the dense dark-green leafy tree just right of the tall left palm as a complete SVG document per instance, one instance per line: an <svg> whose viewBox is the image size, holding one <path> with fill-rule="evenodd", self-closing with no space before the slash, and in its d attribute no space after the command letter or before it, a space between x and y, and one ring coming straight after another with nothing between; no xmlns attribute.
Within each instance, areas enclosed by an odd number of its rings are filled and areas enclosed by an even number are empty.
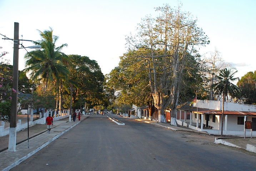
<svg viewBox="0 0 256 171"><path fill-rule="evenodd" d="M70 80L75 88L72 95L73 106L80 108L84 100L92 106L104 105L107 101L103 89L104 75L99 64L87 56L69 55L69 58L72 63ZM66 94L69 95L70 92L66 91Z"/></svg>

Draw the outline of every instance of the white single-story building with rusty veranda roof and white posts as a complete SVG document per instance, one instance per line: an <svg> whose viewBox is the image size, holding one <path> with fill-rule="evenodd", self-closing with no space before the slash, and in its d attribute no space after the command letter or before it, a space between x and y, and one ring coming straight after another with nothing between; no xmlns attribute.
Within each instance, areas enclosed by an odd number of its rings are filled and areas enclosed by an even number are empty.
<svg viewBox="0 0 256 171"><path fill-rule="evenodd" d="M214 100L196 100L193 106L189 103L179 105L177 109L184 111L184 119L179 117L179 125L188 126L198 131L209 134L221 134L222 102ZM188 117L189 115L189 117ZM243 136L245 121L252 121L252 135L256 136L256 105L225 102L223 135ZM246 135L251 135L251 130L246 129Z"/></svg>

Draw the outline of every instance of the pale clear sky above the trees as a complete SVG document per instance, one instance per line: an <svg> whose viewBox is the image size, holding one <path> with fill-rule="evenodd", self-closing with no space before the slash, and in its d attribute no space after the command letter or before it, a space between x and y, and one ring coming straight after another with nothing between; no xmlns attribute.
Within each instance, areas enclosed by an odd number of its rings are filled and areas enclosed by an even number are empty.
<svg viewBox="0 0 256 171"><path fill-rule="evenodd" d="M226 62L237 68L236 77L256 70L256 1L255 0L182 0L183 11L198 19L210 44L200 48L208 55L215 47ZM40 31L52 27L59 36L57 45L67 43L62 52L96 60L104 74L118 66L126 52L125 36L136 33L141 18L156 15L154 7L176 0L0 0L0 33L14 36L14 22L19 22L20 36L40 40ZM12 64L13 43L2 40L0 52ZM21 38L21 37L20 37ZM23 45L32 46L31 42ZM19 70L24 69L25 50L19 50Z"/></svg>

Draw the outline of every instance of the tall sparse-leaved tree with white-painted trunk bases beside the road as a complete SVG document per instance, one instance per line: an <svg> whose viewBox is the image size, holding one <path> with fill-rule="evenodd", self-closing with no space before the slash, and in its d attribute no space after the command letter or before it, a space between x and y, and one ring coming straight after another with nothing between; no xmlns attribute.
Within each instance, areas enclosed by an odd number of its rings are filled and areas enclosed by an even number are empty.
<svg viewBox="0 0 256 171"><path fill-rule="evenodd" d="M171 124L176 125L176 107L181 78L186 66L197 56L196 47L209 43L197 20L188 12L169 5L157 7L156 18L146 16L138 24L138 33L127 36L126 66L136 66L136 72L147 71L147 80L154 105L159 111L159 122L166 122L165 108L171 108Z"/></svg>

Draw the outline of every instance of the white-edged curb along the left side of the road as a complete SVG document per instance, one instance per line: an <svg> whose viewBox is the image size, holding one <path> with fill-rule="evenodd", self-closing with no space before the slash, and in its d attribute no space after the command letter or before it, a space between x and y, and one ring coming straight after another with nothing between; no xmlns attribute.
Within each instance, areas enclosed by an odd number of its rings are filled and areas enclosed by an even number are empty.
<svg viewBox="0 0 256 171"><path fill-rule="evenodd" d="M90 115L84 119L89 118ZM80 120L80 122L82 121ZM11 165L5 167L2 171L8 171L12 168L14 168L15 166L19 165L22 161L25 161L27 158L31 157L32 155L34 155L36 152L40 151L41 149L43 149L44 147L46 147L47 145L49 145L52 141L56 140L57 138L59 138L61 135L63 135L64 133L66 133L67 131L69 131L71 128L73 128L74 126L76 126L77 124L79 124L80 122L72 125L71 127L65 129L64 131L62 131L60 134L56 135L54 138L51 138L49 141L45 142L43 145L41 145L40 147L38 147L37 149L35 149L34 151L31 151L29 154L25 155L24 157L22 157L21 159L15 161L14 163L12 163Z"/></svg>

